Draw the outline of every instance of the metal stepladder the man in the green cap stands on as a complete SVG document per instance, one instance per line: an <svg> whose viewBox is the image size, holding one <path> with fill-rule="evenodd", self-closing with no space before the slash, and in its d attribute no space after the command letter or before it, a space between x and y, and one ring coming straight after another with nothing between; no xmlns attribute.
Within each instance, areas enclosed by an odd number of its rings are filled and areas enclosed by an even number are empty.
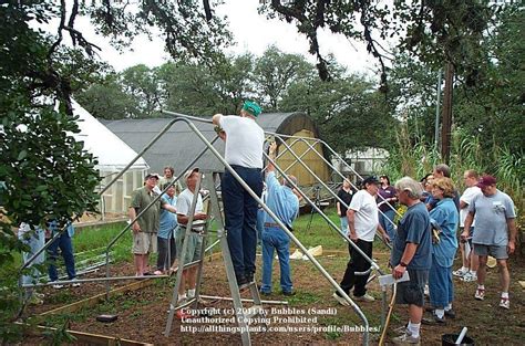
<svg viewBox="0 0 525 346"><path fill-rule="evenodd" d="M194 197L192 200L192 206L188 212L187 224L185 228L179 228L178 231L185 231L184 241L182 242L181 251L177 253L178 259L178 270L176 272L176 280L173 287L173 295L172 301L169 304L168 310L168 317L166 322L166 327L164 331L164 335L167 337L172 333L173 328L173 319L177 312L179 311L202 311L203 307L203 300L200 298L200 287L203 285L203 273L205 270L204 265L204 254L206 250L206 243L208 235L210 234L212 224L216 230L217 234L217 242L220 247L222 258L224 261L224 268L226 270L227 282L229 286L229 292L231 295L233 302L233 312L235 315L235 321L237 324L237 331L240 334L243 345L251 345L250 338L250 325L251 322L255 321L255 317L265 315L265 310L262 307L262 303L260 300L259 291L255 281L238 286L234 265L231 262L230 251L226 238L226 230L225 223L223 218L223 211L219 203L218 193L216 190L216 181L218 182L218 174L213 171L199 171L198 172L198 180L197 185L194 190ZM198 199L202 198L198 195L202 188L206 188L209 193L207 196L207 208L206 208L206 220L194 220L194 216L196 213L196 207ZM202 229L200 229L202 228ZM195 232L195 229L199 229L198 237L203 238L200 243L200 258L193 259L192 255L187 255L188 253L188 239L191 232ZM194 234L195 237L195 234ZM195 295L188 296L187 300L179 300L179 290L183 283L183 272L189 271L191 269L196 268L196 287L195 287ZM241 292L249 293L249 300L244 300L245 302L253 302L248 306L249 303L243 304L241 301ZM181 313L178 314L181 316ZM184 314L185 317L187 316ZM191 318L192 316L187 316Z"/></svg>

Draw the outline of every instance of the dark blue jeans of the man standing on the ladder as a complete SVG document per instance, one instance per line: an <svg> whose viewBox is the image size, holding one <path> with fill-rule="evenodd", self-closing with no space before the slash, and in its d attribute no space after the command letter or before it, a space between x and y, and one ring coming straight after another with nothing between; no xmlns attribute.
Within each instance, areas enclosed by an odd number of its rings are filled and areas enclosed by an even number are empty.
<svg viewBox="0 0 525 346"><path fill-rule="evenodd" d="M231 165L231 168L260 197L262 193L260 169L236 165ZM222 193L227 230L226 238L238 281L255 273L258 203L228 170L223 176Z"/></svg>

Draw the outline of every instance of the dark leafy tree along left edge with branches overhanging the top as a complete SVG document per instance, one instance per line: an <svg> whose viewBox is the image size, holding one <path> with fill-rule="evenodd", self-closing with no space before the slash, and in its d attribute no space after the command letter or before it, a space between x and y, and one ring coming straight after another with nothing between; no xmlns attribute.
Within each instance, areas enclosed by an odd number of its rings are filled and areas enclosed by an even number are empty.
<svg viewBox="0 0 525 346"><path fill-rule="evenodd" d="M94 210L93 192L99 175L94 158L71 134L78 132L71 95L87 87L101 70L94 63L99 49L75 27L80 13L94 21L100 33L116 45L138 32L161 28L173 56L210 63L229 42L222 19L213 15L208 0L152 1L136 7L127 1L19 1L0 6L0 200L10 221L1 220L0 336L13 342L19 333L12 324L19 311L12 292L17 280L12 251L22 247L11 226L21 221L44 226L56 219L61 226L85 210ZM203 10L204 8L204 10ZM38 24L58 21L54 34ZM73 49L64 45L69 34Z"/></svg>

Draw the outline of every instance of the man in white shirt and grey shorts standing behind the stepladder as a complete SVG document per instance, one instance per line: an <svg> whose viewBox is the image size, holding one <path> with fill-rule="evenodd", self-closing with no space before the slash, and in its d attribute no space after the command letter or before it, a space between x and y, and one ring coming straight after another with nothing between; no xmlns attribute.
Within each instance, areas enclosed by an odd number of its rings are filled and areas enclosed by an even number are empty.
<svg viewBox="0 0 525 346"><path fill-rule="evenodd" d="M178 263L181 264L195 262L200 260L203 253L203 226L192 226L189 232L187 232L187 224L189 221L192 202L195 193L197 193L197 203L195 206L195 213L193 216L194 222L197 220L206 220L206 213L204 213L203 197L198 191L195 190L198 181L198 168L193 168L184 175L187 188L178 195L177 199L177 222L178 228L175 232L175 243L178 254ZM187 238L186 252L183 259L183 244ZM195 296L197 280L197 266L194 265L183 271L181 284L178 285L178 302L182 303L187 298ZM186 286L188 287L186 294ZM177 317L181 319L185 318L185 312L183 310L177 311Z"/></svg>

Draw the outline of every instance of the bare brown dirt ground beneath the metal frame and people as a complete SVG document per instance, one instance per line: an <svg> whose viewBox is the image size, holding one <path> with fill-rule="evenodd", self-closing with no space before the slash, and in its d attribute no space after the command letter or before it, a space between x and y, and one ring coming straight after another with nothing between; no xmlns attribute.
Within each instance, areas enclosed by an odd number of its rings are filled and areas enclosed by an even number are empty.
<svg viewBox="0 0 525 346"><path fill-rule="evenodd" d="M387 253L374 253L374 256L385 268ZM344 253L322 255L320 263L332 277L339 282L344 272L348 255ZM260 258L258 258L260 264ZM454 279L455 303L457 317L449 319L445 326L422 326L424 345L441 345L443 334L459 333L463 326L469 327L467 335L476 344L486 345L523 345L525 335L525 293L517 281L525 279L523 262L511 262L512 286L511 310L504 311L498 304L498 276L496 269L490 269L487 275L486 298L483 302L474 300L475 283L464 283ZM277 265L277 261L274 263ZM278 266L278 265L277 265ZM251 324L251 342L261 344L361 344L362 322L351 307L339 305L332 297L333 290L328 281L313 268L309 261L291 261L292 280L297 294L291 297L280 294L278 285L278 269L274 268L274 293L262 296L262 300L287 301L288 305L265 304L265 319L259 318ZM130 275L130 264L113 266L112 273ZM96 274L92 274L96 275ZM101 275L101 274L99 274ZM257 276L260 282L260 266ZM205 300L194 313L200 316L189 321L174 319L169 337L163 332L166 326L167 310L173 294L175 279L162 279L140 291L128 292L122 296L112 297L92 308L82 308L73 314L45 316L42 323L51 326L63 325L70 321L71 329L94 334L119 336L121 338L153 344L239 344L239 334L234 331L233 304L227 301ZM130 282L120 282L123 285ZM359 303L370 325L370 344L378 344L380 336L381 292L378 280L369 284L369 293L377 301ZM44 305L31 307L31 314L39 314L59 307L69 302L75 302L104 292L103 284L83 284L78 289L47 289ZM202 294L229 296L226 273L222 260L207 261L204 266ZM248 297L244 293L244 297ZM390 300L390 296L389 296ZM249 307L249 304L245 304ZM116 314L113 323L96 322L99 314ZM266 325L262 323L266 322ZM397 336L393 331L406 322L405 308L395 306L389 326L389 339ZM266 329L266 331L265 331ZM271 331L270 331L271 329Z"/></svg>

